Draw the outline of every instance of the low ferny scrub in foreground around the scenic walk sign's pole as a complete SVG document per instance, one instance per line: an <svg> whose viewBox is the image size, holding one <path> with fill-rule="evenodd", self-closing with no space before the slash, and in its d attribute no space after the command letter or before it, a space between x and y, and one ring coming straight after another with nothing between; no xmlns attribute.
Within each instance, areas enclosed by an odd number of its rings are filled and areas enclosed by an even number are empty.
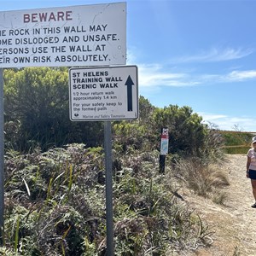
<svg viewBox="0 0 256 256"><path fill-rule="evenodd" d="M167 255L204 246L202 222L158 173L158 151L114 154L116 255ZM5 157L6 253L104 255L106 206L102 148L70 144ZM100 174L101 173L101 174ZM202 224L203 223L203 224ZM201 231L203 230L203 231ZM200 235L199 235L200 234Z"/></svg>

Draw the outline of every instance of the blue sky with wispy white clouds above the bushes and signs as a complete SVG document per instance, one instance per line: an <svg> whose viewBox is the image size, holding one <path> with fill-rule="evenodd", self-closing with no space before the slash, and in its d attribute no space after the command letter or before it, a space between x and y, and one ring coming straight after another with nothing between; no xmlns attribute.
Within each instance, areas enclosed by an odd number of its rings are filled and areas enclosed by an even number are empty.
<svg viewBox="0 0 256 256"><path fill-rule="evenodd" d="M256 131L254 0L0 0L0 11L119 2L140 96L189 106L220 130Z"/></svg>

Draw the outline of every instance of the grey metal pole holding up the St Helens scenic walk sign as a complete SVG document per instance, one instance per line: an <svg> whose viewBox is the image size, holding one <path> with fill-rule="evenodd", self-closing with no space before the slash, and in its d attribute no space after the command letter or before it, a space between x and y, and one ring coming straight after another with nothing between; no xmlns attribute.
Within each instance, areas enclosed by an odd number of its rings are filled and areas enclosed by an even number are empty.
<svg viewBox="0 0 256 256"><path fill-rule="evenodd" d="M113 185L112 185L112 131L111 122L104 122L106 172L107 256L113 256Z"/></svg>

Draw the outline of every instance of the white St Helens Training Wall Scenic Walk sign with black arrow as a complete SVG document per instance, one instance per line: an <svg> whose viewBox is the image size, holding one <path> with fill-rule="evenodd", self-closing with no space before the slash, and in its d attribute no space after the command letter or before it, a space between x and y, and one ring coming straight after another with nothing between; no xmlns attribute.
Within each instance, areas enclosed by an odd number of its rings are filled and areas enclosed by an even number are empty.
<svg viewBox="0 0 256 256"><path fill-rule="evenodd" d="M138 118L137 67L69 69L72 121Z"/></svg>

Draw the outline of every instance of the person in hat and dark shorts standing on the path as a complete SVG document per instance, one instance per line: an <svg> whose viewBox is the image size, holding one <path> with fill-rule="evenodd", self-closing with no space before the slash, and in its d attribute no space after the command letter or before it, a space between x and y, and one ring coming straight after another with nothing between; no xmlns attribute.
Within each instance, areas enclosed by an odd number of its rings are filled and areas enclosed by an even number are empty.
<svg viewBox="0 0 256 256"><path fill-rule="evenodd" d="M251 179L253 188L254 204L253 208L256 208L256 137L253 137L252 148L247 153L247 177Z"/></svg>

